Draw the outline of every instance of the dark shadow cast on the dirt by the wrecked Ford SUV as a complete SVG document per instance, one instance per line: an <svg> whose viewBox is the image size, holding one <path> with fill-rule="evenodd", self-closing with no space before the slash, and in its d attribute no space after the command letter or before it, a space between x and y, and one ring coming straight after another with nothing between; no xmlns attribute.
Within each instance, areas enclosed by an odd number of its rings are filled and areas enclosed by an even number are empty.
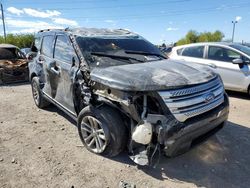
<svg viewBox="0 0 250 188"><path fill-rule="evenodd" d="M53 105L48 109L76 123ZM135 165L124 152L111 158L114 161ZM158 179L194 183L197 186L221 188L250 185L250 128L228 122L222 130L189 152L175 157L161 157L156 168L138 167Z"/></svg>

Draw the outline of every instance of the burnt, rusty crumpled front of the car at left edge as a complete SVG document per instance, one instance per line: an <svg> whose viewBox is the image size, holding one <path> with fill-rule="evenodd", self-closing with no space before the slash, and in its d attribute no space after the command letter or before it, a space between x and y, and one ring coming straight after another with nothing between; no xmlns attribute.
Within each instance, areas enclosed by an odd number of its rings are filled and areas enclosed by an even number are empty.
<svg viewBox="0 0 250 188"><path fill-rule="evenodd" d="M16 83L29 80L28 61L0 60L0 84Z"/></svg>

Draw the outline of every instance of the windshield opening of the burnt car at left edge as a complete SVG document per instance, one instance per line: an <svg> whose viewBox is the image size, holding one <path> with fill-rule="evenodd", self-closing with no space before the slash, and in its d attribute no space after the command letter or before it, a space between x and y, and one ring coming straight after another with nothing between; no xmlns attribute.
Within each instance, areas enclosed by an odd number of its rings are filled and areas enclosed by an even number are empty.
<svg viewBox="0 0 250 188"><path fill-rule="evenodd" d="M0 59L24 59L24 55L17 48L0 48Z"/></svg>

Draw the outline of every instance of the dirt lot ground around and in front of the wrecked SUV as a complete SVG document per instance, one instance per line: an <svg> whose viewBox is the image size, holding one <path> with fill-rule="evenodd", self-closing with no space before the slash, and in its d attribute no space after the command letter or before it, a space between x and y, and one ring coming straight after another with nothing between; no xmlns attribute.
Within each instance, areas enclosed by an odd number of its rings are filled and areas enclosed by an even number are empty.
<svg viewBox="0 0 250 188"><path fill-rule="evenodd" d="M38 110L29 85L0 87L0 187L249 187L250 100L230 93L229 122L217 135L156 168L127 155L88 152L77 129L55 107Z"/></svg>

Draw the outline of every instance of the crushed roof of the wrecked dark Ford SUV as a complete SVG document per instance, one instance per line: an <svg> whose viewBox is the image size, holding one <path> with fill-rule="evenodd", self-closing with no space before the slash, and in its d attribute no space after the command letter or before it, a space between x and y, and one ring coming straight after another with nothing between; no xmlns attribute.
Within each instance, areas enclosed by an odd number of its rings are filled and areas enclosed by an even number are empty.
<svg viewBox="0 0 250 188"><path fill-rule="evenodd" d="M137 34L126 29L107 29L107 28L75 28L75 29L46 29L43 32L67 32L81 36L137 36Z"/></svg>

